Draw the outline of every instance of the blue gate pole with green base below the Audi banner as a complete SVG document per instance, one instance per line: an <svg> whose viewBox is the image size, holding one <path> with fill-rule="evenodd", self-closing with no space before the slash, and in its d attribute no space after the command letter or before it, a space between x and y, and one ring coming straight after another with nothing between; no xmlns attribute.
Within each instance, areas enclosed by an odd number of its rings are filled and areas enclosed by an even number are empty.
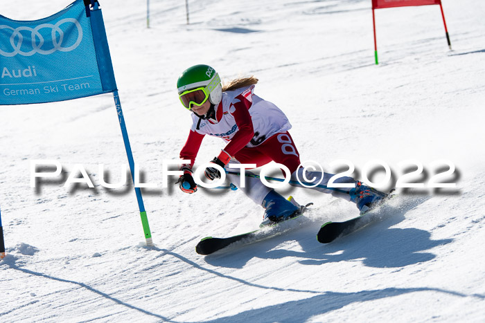
<svg viewBox="0 0 485 323"><path fill-rule="evenodd" d="M132 180L134 185L134 160L132 154L132 147L130 146L130 139L126 131L125 118L123 117L123 111L121 110L120 97L118 91L113 92L114 104L116 104L116 112L118 113L118 120L120 122L121 133L123 134L123 142L125 142L126 154L128 156L128 163L130 164L130 172L132 173ZM138 207L140 209L141 224L143 225L143 232L145 233L146 245L153 246L152 233L150 232L150 225L148 225L148 217L145 212L145 205L143 205L143 199L141 197L140 187L135 187L136 201L138 201Z"/></svg>

